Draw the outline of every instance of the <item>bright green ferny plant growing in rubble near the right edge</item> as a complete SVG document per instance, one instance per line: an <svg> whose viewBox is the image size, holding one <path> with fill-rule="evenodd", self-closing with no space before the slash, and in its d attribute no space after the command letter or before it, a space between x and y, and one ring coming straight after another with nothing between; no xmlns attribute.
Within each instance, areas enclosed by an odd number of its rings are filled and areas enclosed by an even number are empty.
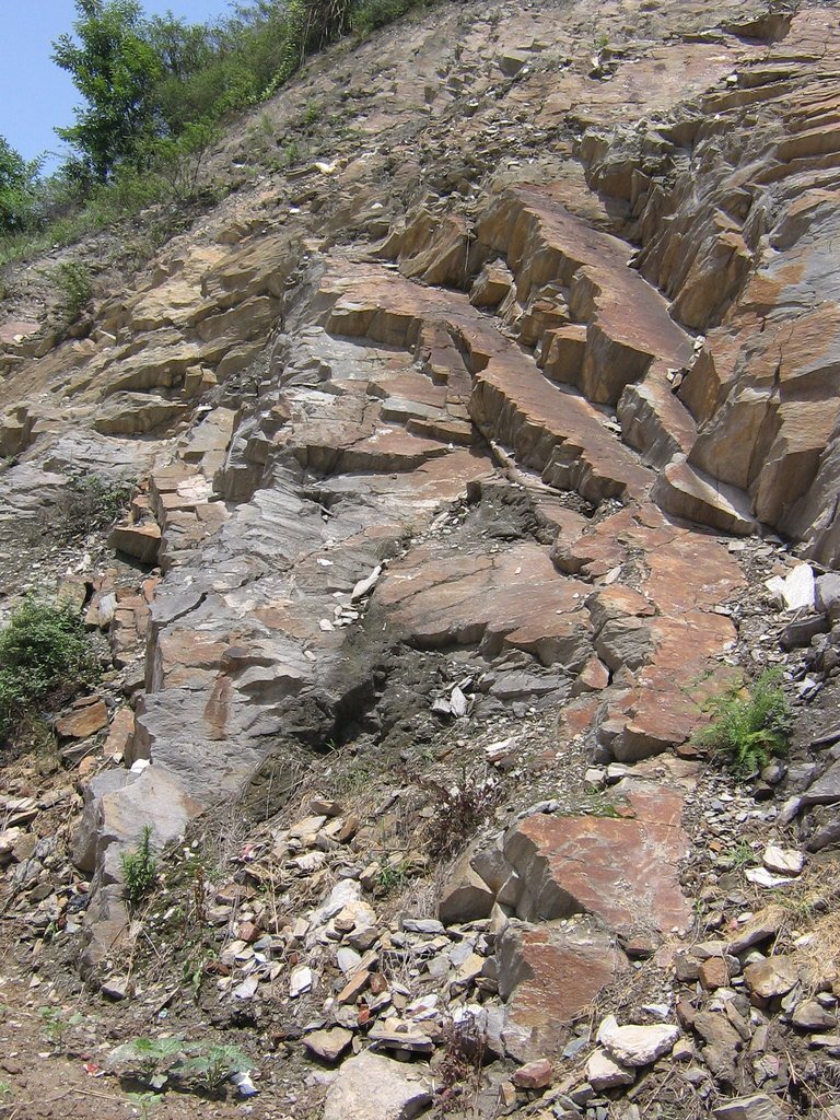
<svg viewBox="0 0 840 1120"><path fill-rule="evenodd" d="M693 741L711 747L737 775L753 774L787 748L791 709L777 669L765 670L750 685L734 684L704 706L711 722Z"/></svg>

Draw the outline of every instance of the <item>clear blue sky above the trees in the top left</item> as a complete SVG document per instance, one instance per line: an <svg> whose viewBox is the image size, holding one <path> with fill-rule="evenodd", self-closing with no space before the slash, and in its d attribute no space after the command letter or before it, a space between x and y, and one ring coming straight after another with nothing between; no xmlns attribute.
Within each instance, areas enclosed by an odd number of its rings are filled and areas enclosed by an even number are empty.
<svg viewBox="0 0 840 1120"><path fill-rule="evenodd" d="M192 22L231 10L228 0L144 0L143 8ZM75 86L49 56L53 40L72 31L76 16L73 0L0 0L0 136L27 159L57 152L53 129L73 123Z"/></svg>

